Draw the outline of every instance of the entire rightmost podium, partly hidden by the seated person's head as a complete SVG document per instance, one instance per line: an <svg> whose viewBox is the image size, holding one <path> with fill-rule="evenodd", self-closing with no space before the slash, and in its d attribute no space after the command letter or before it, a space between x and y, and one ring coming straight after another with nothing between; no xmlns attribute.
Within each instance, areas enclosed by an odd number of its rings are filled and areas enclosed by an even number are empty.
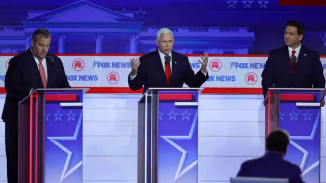
<svg viewBox="0 0 326 183"><path fill-rule="evenodd" d="M320 99L325 89L270 88L265 137L274 129L290 134L285 160L298 165L307 183L320 180Z"/></svg>

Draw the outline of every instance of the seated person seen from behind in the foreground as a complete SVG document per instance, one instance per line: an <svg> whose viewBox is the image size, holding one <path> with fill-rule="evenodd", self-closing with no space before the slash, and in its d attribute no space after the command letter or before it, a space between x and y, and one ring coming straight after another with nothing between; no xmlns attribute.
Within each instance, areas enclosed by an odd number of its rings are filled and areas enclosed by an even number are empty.
<svg viewBox="0 0 326 183"><path fill-rule="evenodd" d="M289 143L286 131L277 129L271 132L266 138L265 155L242 163L237 176L289 178L289 183L303 183L300 167L283 160Z"/></svg>

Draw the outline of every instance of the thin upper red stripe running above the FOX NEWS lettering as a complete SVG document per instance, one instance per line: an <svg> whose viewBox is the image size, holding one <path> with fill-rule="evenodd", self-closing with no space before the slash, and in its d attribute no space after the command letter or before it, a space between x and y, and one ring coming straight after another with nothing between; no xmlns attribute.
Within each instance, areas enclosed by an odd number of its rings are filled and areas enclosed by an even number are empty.
<svg viewBox="0 0 326 183"><path fill-rule="evenodd" d="M16 56L17 54L0 54L1 56ZM69 56L69 57L140 57L144 54L55 54L56 56ZM185 54L188 57L203 56L200 54ZM208 54L209 57L268 57L268 55L217 55ZM326 58L326 55L320 56Z"/></svg>

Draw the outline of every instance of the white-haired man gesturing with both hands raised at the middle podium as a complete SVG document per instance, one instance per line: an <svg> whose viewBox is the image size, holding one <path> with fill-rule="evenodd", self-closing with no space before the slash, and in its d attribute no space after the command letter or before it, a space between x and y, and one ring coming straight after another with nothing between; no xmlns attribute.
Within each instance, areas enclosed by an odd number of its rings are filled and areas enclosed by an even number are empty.
<svg viewBox="0 0 326 183"><path fill-rule="evenodd" d="M131 90L148 88L181 88L185 83L188 87L201 87L208 79L208 55L201 57L201 70L196 74L185 55L173 49L173 33L167 28L157 33L156 44L158 49L148 53L140 59L130 59L131 72L128 75L128 84Z"/></svg>

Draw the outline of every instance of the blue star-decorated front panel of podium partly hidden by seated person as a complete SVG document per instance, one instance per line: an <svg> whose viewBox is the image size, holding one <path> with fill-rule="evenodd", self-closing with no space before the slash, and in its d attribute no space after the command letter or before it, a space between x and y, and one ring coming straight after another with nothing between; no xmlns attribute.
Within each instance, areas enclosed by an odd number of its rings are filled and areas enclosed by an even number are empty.
<svg viewBox="0 0 326 183"><path fill-rule="evenodd" d="M320 178L320 94L280 92L280 129L290 134L285 160L298 165L306 183Z"/></svg>

